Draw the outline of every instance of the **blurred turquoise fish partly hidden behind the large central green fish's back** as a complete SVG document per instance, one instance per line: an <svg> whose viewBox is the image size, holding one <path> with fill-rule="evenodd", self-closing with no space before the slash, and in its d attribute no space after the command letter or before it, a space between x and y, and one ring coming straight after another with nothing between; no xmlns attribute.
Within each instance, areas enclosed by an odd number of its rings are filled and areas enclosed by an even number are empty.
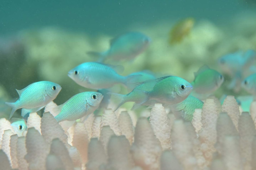
<svg viewBox="0 0 256 170"><path fill-rule="evenodd" d="M140 75L136 76L134 79L130 81L130 83L137 83L137 82L144 82L146 80L155 80L157 77L155 77L154 73L149 70L143 70L140 72L134 72L129 74L129 76L133 75Z"/></svg>

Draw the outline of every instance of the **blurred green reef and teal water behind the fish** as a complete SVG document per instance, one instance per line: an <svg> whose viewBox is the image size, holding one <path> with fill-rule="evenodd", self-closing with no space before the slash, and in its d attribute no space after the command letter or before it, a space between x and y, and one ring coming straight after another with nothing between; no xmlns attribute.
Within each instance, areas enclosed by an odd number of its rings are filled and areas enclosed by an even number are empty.
<svg viewBox="0 0 256 170"><path fill-rule="evenodd" d="M120 64L122 75L147 69L192 82L194 72L204 64L224 74L217 62L221 56L256 50L255 4L253 0L1 1L0 118L9 117L11 109L4 102L16 101L15 89L33 82L60 84L62 90L54 100L58 105L77 93L91 91L72 81L68 71L97 61L87 52L105 51L110 39L129 31L144 33L152 42L134 61ZM190 34L171 45L170 30L189 17L195 20ZM218 98L248 94L243 89L228 89L232 77L224 77L215 92Z"/></svg>

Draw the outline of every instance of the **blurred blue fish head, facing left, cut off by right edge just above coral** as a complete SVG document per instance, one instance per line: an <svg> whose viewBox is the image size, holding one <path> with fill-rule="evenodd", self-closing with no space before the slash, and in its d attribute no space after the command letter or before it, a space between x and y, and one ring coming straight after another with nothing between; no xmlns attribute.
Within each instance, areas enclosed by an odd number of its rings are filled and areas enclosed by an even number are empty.
<svg viewBox="0 0 256 170"><path fill-rule="evenodd" d="M256 73L246 77L241 86L250 94L256 94Z"/></svg>

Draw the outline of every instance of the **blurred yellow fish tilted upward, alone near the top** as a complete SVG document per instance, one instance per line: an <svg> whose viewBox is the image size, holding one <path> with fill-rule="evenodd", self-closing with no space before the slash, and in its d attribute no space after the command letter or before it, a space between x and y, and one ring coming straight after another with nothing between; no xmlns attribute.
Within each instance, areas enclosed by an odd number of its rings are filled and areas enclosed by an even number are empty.
<svg viewBox="0 0 256 170"><path fill-rule="evenodd" d="M169 43L175 44L181 42L187 35L189 35L194 23L194 18L186 18L185 20L176 23L170 30Z"/></svg>

